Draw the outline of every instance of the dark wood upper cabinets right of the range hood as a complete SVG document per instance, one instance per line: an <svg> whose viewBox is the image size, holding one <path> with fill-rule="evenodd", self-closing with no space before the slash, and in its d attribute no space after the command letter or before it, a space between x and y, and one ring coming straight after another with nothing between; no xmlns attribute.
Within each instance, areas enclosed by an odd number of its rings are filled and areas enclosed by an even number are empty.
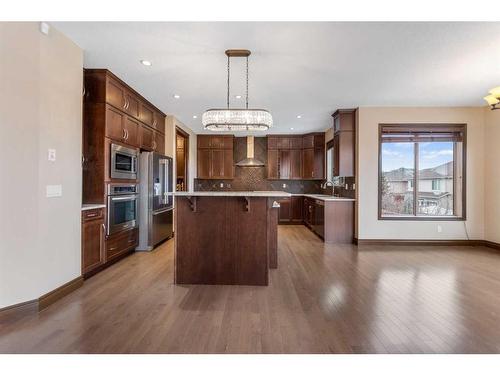
<svg viewBox="0 0 500 375"><path fill-rule="evenodd" d="M324 158L323 133L267 136L268 179L323 179Z"/></svg>

